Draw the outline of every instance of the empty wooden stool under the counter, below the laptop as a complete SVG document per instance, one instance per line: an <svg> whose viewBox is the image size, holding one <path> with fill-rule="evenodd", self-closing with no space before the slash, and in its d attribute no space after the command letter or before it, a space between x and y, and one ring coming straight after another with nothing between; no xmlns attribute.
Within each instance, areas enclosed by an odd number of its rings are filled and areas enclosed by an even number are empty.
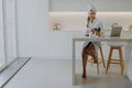
<svg viewBox="0 0 132 88"><path fill-rule="evenodd" d="M119 51L119 59L112 59L112 52L113 50ZM107 69L106 74L110 67L110 64L119 64L121 66L121 75L123 75L124 70L124 63L123 63L123 54L122 54L122 46L110 46L110 53L109 53L109 58L108 58L108 64L107 64Z"/></svg>

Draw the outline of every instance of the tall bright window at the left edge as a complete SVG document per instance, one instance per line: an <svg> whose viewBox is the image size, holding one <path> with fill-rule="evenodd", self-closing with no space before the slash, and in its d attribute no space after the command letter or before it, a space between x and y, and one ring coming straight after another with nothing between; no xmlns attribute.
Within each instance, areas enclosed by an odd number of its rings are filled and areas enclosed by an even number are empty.
<svg viewBox="0 0 132 88"><path fill-rule="evenodd" d="M15 0L0 0L0 69L16 55Z"/></svg>

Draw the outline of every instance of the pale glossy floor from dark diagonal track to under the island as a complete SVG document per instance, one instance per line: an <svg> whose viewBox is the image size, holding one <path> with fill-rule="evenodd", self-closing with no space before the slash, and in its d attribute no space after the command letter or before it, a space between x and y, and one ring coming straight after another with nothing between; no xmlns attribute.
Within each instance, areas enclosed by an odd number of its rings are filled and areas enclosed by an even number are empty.
<svg viewBox="0 0 132 88"><path fill-rule="evenodd" d="M32 58L4 88L132 88L132 82L120 75L120 67L111 67L108 75L100 66L87 66L87 79L81 78L81 61L77 61L77 86L72 85L72 61ZM118 70L117 70L118 69Z"/></svg>

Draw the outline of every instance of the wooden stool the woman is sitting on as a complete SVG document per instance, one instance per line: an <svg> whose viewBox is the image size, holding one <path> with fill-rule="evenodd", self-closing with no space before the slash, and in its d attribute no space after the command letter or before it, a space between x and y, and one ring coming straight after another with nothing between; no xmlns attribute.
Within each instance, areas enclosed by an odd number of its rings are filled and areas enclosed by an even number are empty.
<svg viewBox="0 0 132 88"><path fill-rule="evenodd" d="M102 53L102 47L101 47L101 45L99 46L99 51L100 51L100 55L101 55L101 59L98 59L98 63L97 63L97 72L98 72L98 74L99 74L99 65L102 63L103 64L103 67L106 68L106 64L105 64L105 58L103 58L103 53ZM92 64L94 64L94 59L91 58L91 59L89 59L88 62L90 62L91 63L91 66L92 66Z"/></svg>

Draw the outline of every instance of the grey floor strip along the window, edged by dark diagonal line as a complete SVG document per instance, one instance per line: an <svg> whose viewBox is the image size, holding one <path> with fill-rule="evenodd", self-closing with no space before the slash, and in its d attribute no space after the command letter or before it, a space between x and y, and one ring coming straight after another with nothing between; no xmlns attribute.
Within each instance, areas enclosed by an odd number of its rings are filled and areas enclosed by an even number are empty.
<svg viewBox="0 0 132 88"><path fill-rule="evenodd" d="M21 57L14 59L6 69L0 72L0 88L2 88L26 63L29 57Z"/></svg>

